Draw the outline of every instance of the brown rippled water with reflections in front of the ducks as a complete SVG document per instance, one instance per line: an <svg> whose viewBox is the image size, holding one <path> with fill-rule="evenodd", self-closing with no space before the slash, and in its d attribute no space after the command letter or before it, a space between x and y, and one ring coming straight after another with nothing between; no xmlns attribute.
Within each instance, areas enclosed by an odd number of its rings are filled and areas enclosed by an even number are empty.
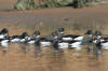
<svg viewBox="0 0 108 71"><path fill-rule="evenodd" d="M97 56L86 47L56 55L52 47L37 49L23 44L10 44L6 52L0 47L0 71L108 71L108 51Z"/></svg>

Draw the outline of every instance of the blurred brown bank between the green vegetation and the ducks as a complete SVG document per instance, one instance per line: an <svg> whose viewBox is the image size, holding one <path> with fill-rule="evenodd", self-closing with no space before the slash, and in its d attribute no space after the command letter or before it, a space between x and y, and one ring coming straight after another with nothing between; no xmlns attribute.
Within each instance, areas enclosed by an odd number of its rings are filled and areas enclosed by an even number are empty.
<svg viewBox="0 0 108 71"><path fill-rule="evenodd" d="M100 29L107 34L107 9L108 5L87 9L60 8L31 11L0 11L0 29L6 27L11 29L10 32L16 32L15 29L30 32L40 29L43 34L48 34L58 28L58 26L63 26L66 28L67 33L78 33L73 32L75 30L80 30L83 33L86 29Z"/></svg>

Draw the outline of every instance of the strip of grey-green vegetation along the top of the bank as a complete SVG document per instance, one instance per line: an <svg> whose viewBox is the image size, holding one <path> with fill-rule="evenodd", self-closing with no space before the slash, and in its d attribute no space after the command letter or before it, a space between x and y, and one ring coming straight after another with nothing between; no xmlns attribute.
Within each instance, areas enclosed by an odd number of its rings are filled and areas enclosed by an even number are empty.
<svg viewBox="0 0 108 71"><path fill-rule="evenodd" d="M71 6L75 9L81 9L84 6L100 5L108 3L108 0L17 0L14 5L14 10L35 10L35 9L46 9L46 8L62 8Z"/></svg>

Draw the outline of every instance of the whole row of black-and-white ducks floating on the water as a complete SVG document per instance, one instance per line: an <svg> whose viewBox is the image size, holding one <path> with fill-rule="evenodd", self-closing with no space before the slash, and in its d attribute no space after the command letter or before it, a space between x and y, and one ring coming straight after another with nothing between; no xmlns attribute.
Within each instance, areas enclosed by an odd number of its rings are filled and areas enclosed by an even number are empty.
<svg viewBox="0 0 108 71"><path fill-rule="evenodd" d="M84 39L86 39L90 52L93 52L94 47L97 53L102 53L102 48L108 49L108 38L104 38L100 31L93 32L92 30L87 30L84 36L76 36L65 34L65 29L58 28L52 32L51 37L41 37L39 30L36 30L32 36L23 32L21 36L12 37L9 37L9 30L6 28L0 31L0 46L4 48L9 48L10 43L23 43L25 45L33 44L36 47L52 46L54 52L68 48L81 49Z"/></svg>

